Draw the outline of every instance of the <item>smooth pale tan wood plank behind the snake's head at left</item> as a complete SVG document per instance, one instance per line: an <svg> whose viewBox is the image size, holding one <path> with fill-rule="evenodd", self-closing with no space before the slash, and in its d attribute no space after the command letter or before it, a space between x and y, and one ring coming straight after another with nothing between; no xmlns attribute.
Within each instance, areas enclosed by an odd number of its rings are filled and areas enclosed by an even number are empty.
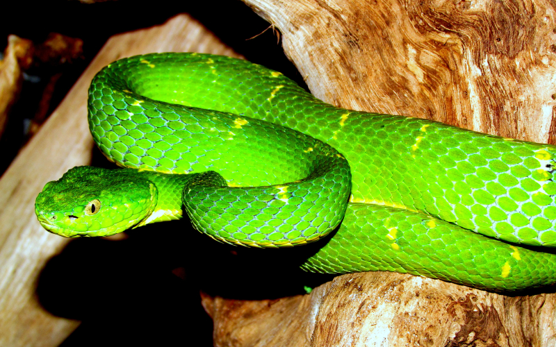
<svg viewBox="0 0 556 347"><path fill-rule="evenodd" d="M0 346L58 346L79 325L53 316L35 297L41 270L68 241L40 227L33 208L35 197L47 181L90 163L93 143L86 100L94 74L118 58L161 51L237 56L188 15L111 38L0 179Z"/></svg>

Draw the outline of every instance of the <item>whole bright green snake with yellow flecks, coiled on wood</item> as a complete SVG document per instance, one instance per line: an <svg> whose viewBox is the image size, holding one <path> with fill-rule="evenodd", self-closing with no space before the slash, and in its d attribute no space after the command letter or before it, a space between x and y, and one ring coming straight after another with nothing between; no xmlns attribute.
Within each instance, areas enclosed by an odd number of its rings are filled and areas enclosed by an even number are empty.
<svg viewBox="0 0 556 347"><path fill-rule="evenodd" d="M88 123L126 169L76 167L42 226L107 236L179 219L221 242L296 246L302 268L397 271L492 291L556 282L556 147L336 108L277 71L200 53L117 60Z"/></svg>

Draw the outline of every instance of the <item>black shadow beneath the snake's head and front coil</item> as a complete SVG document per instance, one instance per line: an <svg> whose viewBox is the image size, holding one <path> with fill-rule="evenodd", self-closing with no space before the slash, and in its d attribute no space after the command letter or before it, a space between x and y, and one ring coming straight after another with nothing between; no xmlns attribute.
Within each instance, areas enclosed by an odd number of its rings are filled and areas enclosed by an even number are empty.
<svg viewBox="0 0 556 347"><path fill-rule="evenodd" d="M320 245L251 249L215 242L188 221L156 223L120 240L72 240L36 293L47 311L82 322L63 347L212 346L199 290L246 300L304 294L332 278L298 268Z"/></svg>

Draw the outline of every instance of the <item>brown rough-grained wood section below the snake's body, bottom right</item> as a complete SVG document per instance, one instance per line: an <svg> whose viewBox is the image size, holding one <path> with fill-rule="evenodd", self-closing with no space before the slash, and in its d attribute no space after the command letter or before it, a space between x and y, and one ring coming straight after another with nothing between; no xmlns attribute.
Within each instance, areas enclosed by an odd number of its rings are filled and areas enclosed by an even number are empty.
<svg viewBox="0 0 556 347"><path fill-rule="evenodd" d="M202 295L215 346L556 346L554 294L502 296L401 273L352 273L309 295Z"/></svg>

